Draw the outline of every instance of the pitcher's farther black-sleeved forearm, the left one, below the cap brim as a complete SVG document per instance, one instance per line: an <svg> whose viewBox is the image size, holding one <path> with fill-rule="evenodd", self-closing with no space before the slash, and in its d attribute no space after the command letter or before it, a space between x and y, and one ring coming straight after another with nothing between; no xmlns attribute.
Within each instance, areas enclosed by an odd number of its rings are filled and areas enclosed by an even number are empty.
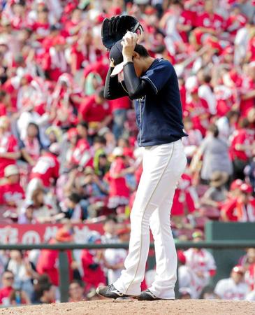
<svg viewBox="0 0 255 315"><path fill-rule="evenodd" d="M118 81L118 76L110 76L112 70L113 68L110 67L105 79L105 88L103 91L103 96L105 99L119 99L119 97L124 97L127 95L122 85Z"/></svg>

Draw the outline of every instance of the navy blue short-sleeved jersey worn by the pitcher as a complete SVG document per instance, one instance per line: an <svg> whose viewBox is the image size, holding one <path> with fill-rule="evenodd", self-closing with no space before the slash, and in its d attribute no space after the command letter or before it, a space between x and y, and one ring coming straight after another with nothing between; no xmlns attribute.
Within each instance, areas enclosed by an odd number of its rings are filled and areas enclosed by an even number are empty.
<svg viewBox="0 0 255 315"><path fill-rule="evenodd" d="M187 136L173 65L165 59L155 59L140 78L150 83L151 90L135 102L139 146L168 144Z"/></svg>

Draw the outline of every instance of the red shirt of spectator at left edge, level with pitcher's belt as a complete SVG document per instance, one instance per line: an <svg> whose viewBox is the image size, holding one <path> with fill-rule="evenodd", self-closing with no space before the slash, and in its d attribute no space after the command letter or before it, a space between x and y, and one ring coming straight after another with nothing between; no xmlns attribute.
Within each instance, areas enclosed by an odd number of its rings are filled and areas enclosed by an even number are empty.
<svg viewBox="0 0 255 315"><path fill-rule="evenodd" d="M3 134L3 136L0 137L0 153L15 152L18 152L17 139L13 136L13 134L6 132L6 134ZM0 178L4 175L4 169L8 165L13 165L15 163L16 161L13 159L0 158Z"/></svg>

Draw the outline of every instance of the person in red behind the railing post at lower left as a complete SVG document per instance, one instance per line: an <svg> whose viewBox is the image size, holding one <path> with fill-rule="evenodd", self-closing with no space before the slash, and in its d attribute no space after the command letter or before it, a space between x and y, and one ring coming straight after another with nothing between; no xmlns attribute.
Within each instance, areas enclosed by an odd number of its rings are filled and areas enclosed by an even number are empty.
<svg viewBox="0 0 255 315"><path fill-rule="evenodd" d="M73 241L73 237L67 228L61 228L57 231L57 235L54 239L51 239L49 244L58 243L70 243ZM69 280L73 279L72 270L72 253L66 251L69 265ZM49 249L42 249L38 257L38 263L36 265L38 274L48 274L50 281L54 286L59 286L59 251L52 251Z"/></svg>

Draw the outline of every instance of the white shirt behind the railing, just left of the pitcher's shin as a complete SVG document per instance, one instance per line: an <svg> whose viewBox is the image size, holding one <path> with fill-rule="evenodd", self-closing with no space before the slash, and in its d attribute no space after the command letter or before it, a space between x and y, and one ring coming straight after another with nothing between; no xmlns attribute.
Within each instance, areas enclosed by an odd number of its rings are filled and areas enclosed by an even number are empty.
<svg viewBox="0 0 255 315"><path fill-rule="evenodd" d="M127 251L123 248L108 248L105 250L105 260L108 262L109 265L117 265L121 262L124 262L127 255ZM115 282L123 268L120 269L108 269L107 276L108 276L108 283Z"/></svg>

